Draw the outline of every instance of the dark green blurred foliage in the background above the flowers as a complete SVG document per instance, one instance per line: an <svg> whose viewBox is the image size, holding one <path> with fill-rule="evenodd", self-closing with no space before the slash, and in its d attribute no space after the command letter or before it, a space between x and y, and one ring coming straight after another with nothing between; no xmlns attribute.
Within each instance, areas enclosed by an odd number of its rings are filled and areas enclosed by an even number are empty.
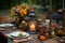
<svg viewBox="0 0 65 43"><path fill-rule="evenodd" d="M51 8L53 9L53 11L55 11L56 9L63 9L63 0L51 0L51 1L52 1ZM22 3L26 3L31 8L36 9L36 12L38 14L48 12L50 9L50 0L0 0L0 15L2 14L6 15L6 13L9 13L8 10ZM64 8L65 8L65 3L64 3Z"/></svg>

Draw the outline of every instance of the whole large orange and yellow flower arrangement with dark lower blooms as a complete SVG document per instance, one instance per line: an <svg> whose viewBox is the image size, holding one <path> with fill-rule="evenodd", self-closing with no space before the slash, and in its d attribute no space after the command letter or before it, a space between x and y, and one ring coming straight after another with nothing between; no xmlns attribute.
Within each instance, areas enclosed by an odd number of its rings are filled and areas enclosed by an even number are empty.
<svg viewBox="0 0 65 43"><path fill-rule="evenodd" d="M10 11L11 17L13 17L13 18L15 17L14 23L17 28L23 28L24 30L27 28L27 20L30 18L29 13L32 10L34 10L34 8L31 8L30 5L27 5L25 3L15 5L11 9L11 11ZM34 11L34 13L35 13L35 11ZM34 16L36 16L36 15L34 15ZM23 20L25 23L23 23Z"/></svg>

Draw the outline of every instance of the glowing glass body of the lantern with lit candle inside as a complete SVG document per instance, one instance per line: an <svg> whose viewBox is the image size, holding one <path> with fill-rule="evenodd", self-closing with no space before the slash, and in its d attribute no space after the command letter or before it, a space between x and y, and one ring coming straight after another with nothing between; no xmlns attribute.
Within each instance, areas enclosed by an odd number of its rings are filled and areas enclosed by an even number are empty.
<svg viewBox="0 0 65 43"><path fill-rule="evenodd" d="M37 27L38 27L38 22L36 20L36 19L30 19L30 20L28 20L28 23L27 23L27 25L28 25L28 29L27 29L27 31L29 32L29 33L37 33L37 31L38 31L38 29L37 29Z"/></svg>

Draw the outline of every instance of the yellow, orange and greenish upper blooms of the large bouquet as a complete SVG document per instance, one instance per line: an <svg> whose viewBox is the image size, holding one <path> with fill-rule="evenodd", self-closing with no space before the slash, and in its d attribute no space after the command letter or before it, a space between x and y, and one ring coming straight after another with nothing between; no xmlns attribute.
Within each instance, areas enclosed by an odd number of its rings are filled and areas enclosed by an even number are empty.
<svg viewBox="0 0 65 43"><path fill-rule="evenodd" d="M16 13L20 13L21 16L25 16L27 15L28 11L30 10L29 5L23 3L20 5L15 5L10 10L10 16L14 17L14 15L16 15Z"/></svg>

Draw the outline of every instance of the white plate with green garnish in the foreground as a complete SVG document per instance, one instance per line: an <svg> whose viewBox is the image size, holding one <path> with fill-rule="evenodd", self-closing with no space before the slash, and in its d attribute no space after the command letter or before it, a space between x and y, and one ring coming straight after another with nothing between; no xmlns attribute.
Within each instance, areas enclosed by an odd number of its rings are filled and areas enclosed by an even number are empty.
<svg viewBox="0 0 65 43"><path fill-rule="evenodd" d="M28 38L30 34L24 31L14 31L8 34L8 37L10 38L17 38L17 39L22 39L22 38Z"/></svg>

